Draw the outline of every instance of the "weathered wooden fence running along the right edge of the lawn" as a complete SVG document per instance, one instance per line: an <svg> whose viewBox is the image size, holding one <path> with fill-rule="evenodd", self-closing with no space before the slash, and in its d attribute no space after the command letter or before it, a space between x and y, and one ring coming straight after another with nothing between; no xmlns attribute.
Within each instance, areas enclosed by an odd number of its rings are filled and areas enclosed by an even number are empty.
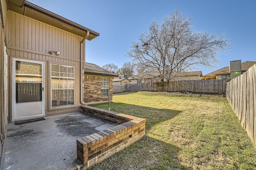
<svg viewBox="0 0 256 170"><path fill-rule="evenodd" d="M226 96L256 147L256 64L228 82Z"/></svg>

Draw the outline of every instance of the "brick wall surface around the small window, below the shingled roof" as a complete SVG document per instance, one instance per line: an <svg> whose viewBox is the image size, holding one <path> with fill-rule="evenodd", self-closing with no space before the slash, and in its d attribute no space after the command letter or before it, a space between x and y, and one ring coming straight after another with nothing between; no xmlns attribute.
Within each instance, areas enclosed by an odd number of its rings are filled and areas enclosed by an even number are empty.
<svg viewBox="0 0 256 170"><path fill-rule="evenodd" d="M108 97L101 97L100 78L104 76L84 75L84 102L108 102ZM105 76L106 77L106 76ZM109 78L110 101L112 101L112 77Z"/></svg>

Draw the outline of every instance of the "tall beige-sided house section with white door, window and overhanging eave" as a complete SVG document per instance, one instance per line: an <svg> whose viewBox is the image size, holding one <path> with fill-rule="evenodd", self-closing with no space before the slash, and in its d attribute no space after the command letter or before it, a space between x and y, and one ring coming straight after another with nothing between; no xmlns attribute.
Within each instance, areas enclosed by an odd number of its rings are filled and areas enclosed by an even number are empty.
<svg viewBox="0 0 256 170"><path fill-rule="evenodd" d="M8 122L80 111L86 40L99 33L26 0L1 0L0 16L2 144Z"/></svg>

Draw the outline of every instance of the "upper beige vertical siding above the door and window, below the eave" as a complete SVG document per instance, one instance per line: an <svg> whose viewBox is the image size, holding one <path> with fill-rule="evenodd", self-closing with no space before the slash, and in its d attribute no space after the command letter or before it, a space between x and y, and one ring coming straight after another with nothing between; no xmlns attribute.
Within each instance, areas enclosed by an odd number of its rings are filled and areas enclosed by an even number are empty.
<svg viewBox="0 0 256 170"><path fill-rule="evenodd" d="M60 55L55 57L80 60L79 46L82 37L14 12L9 12L8 17L10 19L8 44L12 49L12 56L23 57L22 52L14 54L13 49L46 53L46 55L54 50L60 52Z"/></svg>

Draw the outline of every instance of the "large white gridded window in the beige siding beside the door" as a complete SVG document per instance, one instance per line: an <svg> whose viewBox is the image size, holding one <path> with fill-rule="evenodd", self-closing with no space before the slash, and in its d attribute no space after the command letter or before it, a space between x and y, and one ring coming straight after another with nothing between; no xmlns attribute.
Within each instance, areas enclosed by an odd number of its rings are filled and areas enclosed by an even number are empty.
<svg viewBox="0 0 256 170"><path fill-rule="evenodd" d="M51 64L52 108L74 106L74 66Z"/></svg>

